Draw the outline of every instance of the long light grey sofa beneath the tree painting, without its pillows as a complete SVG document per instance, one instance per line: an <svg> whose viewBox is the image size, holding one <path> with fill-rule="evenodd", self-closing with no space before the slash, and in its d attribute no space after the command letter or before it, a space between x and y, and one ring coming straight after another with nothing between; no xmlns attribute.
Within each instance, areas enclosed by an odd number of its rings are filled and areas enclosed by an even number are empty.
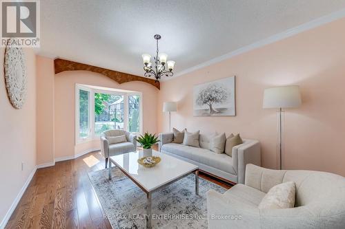
<svg viewBox="0 0 345 229"><path fill-rule="evenodd" d="M199 142L204 148L172 143L173 133L159 134L159 151L199 166L222 179L244 184L246 164L261 165L260 144L257 140L244 139L243 144L233 147L232 157L225 153L217 154L206 149L207 135L200 134Z"/></svg>

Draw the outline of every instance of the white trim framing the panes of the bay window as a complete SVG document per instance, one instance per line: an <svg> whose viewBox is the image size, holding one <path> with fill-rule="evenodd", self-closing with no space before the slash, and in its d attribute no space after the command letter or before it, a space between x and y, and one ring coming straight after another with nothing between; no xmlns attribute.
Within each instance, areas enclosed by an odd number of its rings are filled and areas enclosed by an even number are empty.
<svg viewBox="0 0 345 229"><path fill-rule="evenodd" d="M90 134L88 138L79 138L79 90L83 91L89 91L89 131ZM96 135L95 133L95 93L101 93L101 94L112 94L112 95L120 95L124 96L124 130L128 131L128 121L129 121L129 116L128 116L128 96L139 96L139 109L140 109L140 114L139 114L139 133L141 134L143 131L143 94L141 91L128 91L126 92L123 89L99 89L99 87L92 88L90 85L81 85L81 84L76 84L75 86L75 144L81 144L84 142L90 142L93 140L99 140L99 135ZM92 109L93 107L93 109Z"/></svg>

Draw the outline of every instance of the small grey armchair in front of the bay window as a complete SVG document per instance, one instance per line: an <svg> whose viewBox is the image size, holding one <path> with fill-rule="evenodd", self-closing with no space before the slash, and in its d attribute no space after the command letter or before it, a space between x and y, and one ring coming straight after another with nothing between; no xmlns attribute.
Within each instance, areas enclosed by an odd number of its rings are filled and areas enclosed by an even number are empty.
<svg viewBox="0 0 345 229"><path fill-rule="evenodd" d="M126 135L127 142L117 144L109 144L106 137L115 137L119 135ZM101 133L101 153L106 158L106 168L108 165L108 158L122 153L128 153L137 150L137 135L121 129L110 129Z"/></svg>

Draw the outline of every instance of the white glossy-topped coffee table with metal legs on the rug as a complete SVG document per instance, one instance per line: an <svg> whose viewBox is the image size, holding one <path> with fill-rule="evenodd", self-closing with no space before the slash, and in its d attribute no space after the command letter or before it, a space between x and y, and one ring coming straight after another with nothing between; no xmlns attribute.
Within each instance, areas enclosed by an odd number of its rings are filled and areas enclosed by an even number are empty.
<svg viewBox="0 0 345 229"><path fill-rule="evenodd" d="M161 157L161 162L154 167L146 168L138 164L143 157L143 151L134 151L109 157L109 179L111 179L111 164L115 164L126 176L141 188L147 196L146 227L151 228L152 192L168 184L195 173L195 194L199 195L198 166L179 160L170 155L152 151L152 155Z"/></svg>

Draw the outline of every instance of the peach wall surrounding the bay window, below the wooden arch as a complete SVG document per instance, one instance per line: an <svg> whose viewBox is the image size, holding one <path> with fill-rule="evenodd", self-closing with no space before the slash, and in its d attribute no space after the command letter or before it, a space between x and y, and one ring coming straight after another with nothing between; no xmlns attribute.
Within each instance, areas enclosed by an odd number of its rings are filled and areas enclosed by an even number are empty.
<svg viewBox="0 0 345 229"><path fill-rule="evenodd" d="M99 146L98 141L75 146L75 85L77 83L141 91L143 131L157 131L157 88L137 81L120 85L106 76L93 72L61 72L55 75L55 158L78 155L87 149L95 149Z"/></svg>

